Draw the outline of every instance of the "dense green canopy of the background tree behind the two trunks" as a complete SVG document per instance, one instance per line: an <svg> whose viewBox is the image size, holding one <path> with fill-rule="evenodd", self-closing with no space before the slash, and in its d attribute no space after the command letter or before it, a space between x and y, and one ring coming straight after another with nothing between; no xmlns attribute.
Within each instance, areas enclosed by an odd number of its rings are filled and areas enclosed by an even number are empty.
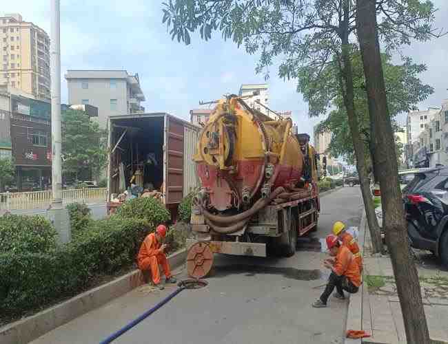
<svg viewBox="0 0 448 344"><path fill-rule="evenodd" d="M427 96L434 92L434 89L423 84L418 78L419 74L425 71L425 65L413 63L410 58L405 58L403 64L394 65L391 63L391 56L383 54L382 58L387 87L387 102L390 116L394 120L398 114L409 111L420 101L425 100ZM359 130L364 134L366 149L368 149L370 123L363 63L359 54L352 56L352 65L354 101L359 118ZM303 69L302 76L299 78L298 90L308 101L310 111L313 111L316 116L326 114L327 109L330 109L327 119L320 122L316 127L316 131L332 133L332 140L329 144L330 155L343 156L347 161L353 162L354 148L347 122L347 111L343 105L340 87L336 80L338 67L334 63L329 63L325 66L322 74L325 75L325 79L320 80L315 78L313 74L307 73L307 69ZM328 101L329 94L334 95L332 101ZM398 126L395 122L394 124L396 131L398 131Z"/></svg>

